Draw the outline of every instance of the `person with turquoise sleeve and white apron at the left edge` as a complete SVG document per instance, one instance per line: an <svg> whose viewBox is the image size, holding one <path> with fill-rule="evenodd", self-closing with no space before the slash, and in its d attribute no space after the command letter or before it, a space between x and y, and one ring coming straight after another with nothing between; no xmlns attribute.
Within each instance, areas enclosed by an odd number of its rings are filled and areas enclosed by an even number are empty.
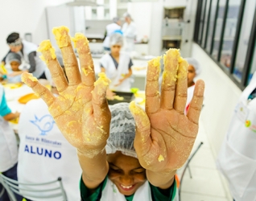
<svg viewBox="0 0 256 201"><path fill-rule="evenodd" d="M17 180L18 145L14 130L10 128L10 120L19 117L19 113L11 113L6 103L4 88L0 84L0 173L8 178ZM0 192L2 185L0 183ZM18 201L22 197L15 195ZM0 196L0 201L9 201L7 192Z"/></svg>

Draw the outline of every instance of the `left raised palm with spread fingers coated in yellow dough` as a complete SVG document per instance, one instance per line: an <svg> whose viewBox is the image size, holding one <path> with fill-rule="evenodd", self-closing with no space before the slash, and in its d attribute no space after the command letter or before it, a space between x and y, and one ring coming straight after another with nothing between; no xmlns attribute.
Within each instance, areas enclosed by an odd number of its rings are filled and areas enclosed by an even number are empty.
<svg viewBox="0 0 256 201"><path fill-rule="evenodd" d="M72 39L79 54L80 71L68 28L54 28L53 33L63 55L68 80L49 40L40 43L38 51L42 52L41 58L52 74L59 96L54 96L29 73L23 73L23 81L43 98L68 142L93 157L104 149L109 137L111 115L105 99L109 79L101 73L99 80L95 82L93 59L89 52L89 42L84 35L76 34Z"/></svg>

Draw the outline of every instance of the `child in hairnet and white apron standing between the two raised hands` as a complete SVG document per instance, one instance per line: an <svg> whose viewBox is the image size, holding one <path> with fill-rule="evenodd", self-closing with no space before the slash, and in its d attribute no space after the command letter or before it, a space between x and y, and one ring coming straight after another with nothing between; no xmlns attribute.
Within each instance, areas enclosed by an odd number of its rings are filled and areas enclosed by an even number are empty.
<svg viewBox="0 0 256 201"><path fill-rule="evenodd" d="M113 97L111 91L130 92L132 75L131 66L133 65L130 56L121 51L123 38L122 35L115 33L109 39L111 52L105 54L101 60L101 72L111 80L107 96Z"/></svg>

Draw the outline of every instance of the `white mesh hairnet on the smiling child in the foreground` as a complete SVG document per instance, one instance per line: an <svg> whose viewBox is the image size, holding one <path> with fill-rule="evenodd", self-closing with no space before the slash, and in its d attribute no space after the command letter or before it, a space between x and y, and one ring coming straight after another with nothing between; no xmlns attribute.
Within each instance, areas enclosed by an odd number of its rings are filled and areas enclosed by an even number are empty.
<svg viewBox="0 0 256 201"><path fill-rule="evenodd" d="M121 151L122 154L137 158L134 149L135 121L128 103L109 106L111 112L110 132L105 146L106 154Z"/></svg>

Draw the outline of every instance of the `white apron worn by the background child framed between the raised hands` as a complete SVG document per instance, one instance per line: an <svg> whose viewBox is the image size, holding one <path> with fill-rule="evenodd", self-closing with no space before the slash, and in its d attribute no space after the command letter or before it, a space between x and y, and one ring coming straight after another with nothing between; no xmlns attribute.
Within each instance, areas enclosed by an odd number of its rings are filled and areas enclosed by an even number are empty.
<svg viewBox="0 0 256 201"><path fill-rule="evenodd" d="M119 80L129 72L129 55L120 53L118 69L115 68L114 61L109 54L105 54L101 58L100 63L105 68L105 75L111 80L111 83L109 84L109 88L111 90L118 92L130 92L130 78L124 80L122 84L115 86L115 84L118 84Z"/></svg>

